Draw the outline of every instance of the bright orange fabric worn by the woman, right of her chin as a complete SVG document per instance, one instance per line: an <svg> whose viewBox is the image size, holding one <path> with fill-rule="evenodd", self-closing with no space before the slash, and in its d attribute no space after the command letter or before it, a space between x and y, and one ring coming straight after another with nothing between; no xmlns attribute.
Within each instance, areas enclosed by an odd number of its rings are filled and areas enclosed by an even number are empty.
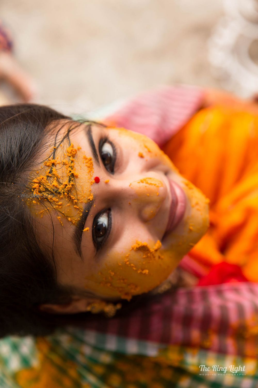
<svg viewBox="0 0 258 388"><path fill-rule="evenodd" d="M258 112L236 99L203 108L163 150L210 199L210 228L190 256L258 281Z"/></svg>

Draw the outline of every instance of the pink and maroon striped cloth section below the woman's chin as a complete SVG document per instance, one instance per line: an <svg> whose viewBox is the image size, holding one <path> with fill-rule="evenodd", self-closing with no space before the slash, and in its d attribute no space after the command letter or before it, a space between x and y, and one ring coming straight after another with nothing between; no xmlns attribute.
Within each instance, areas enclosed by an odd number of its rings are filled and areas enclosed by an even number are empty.
<svg viewBox="0 0 258 388"><path fill-rule="evenodd" d="M170 290L124 316L108 321L93 318L85 322L84 329L148 343L257 357L258 284Z"/></svg>

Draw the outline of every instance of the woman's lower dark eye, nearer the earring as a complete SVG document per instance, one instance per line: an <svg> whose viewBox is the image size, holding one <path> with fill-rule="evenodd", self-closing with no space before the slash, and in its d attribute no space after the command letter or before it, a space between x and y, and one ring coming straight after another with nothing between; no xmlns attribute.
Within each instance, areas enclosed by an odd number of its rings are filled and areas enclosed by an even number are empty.
<svg viewBox="0 0 258 388"><path fill-rule="evenodd" d="M105 210L97 214L92 225L92 240L97 249L101 248L104 241L108 238L111 230L111 211Z"/></svg>

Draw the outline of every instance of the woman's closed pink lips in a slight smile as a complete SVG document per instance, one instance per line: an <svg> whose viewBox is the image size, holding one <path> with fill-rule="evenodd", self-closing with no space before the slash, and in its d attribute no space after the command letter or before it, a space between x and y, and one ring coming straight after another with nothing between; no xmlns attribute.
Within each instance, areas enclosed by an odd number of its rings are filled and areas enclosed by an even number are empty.
<svg viewBox="0 0 258 388"><path fill-rule="evenodd" d="M183 218L186 208L186 195L183 189L172 179L168 178L171 192L171 204L169 209L169 218L166 227L167 232L171 232Z"/></svg>

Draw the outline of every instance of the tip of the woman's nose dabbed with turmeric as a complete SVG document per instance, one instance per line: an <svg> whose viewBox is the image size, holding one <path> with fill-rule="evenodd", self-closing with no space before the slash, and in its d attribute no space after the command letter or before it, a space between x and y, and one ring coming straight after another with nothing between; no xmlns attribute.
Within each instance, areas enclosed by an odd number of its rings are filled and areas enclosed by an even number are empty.
<svg viewBox="0 0 258 388"><path fill-rule="evenodd" d="M157 178L145 177L134 180L129 187L130 203L138 211L140 218L144 222L154 218L167 197L164 182Z"/></svg>

